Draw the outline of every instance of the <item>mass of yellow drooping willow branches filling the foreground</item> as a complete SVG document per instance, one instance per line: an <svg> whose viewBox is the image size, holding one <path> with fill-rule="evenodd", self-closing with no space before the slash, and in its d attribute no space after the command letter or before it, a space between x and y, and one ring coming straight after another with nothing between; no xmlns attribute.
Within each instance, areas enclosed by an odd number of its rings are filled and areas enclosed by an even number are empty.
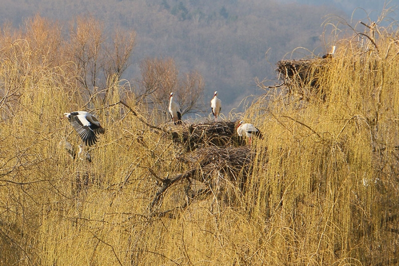
<svg viewBox="0 0 399 266"><path fill-rule="evenodd" d="M264 140L191 153L133 94L114 85L107 101L125 105L87 105L72 62L3 42L0 264L398 265L397 41L342 39L312 72L322 98L269 93L245 114ZM60 118L82 106L106 129L91 164L58 145L79 143Z"/></svg>

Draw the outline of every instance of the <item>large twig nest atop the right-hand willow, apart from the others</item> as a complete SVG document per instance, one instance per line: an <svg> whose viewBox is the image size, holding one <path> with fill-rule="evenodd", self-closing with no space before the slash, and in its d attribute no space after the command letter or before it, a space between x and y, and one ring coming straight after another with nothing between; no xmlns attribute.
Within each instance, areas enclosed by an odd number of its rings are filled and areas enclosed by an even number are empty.
<svg viewBox="0 0 399 266"><path fill-rule="evenodd" d="M327 70L331 57L310 60L281 60L277 62L276 71L284 81L289 94L298 94L304 99L319 95L325 100L320 90L319 73Z"/></svg>

